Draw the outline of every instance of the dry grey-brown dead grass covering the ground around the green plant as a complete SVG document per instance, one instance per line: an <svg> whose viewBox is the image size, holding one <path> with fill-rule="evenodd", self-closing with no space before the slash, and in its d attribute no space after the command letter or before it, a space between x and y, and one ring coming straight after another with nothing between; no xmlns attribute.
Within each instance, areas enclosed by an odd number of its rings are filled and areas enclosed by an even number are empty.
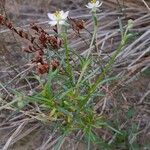
<svg viewBox="0 0 150 150"><path fill-rule="evenodd" d="M84 7L81 7L84 4L86 2L80 0L64 0L61 4L53 0L36 2L34 0L2 0L0 13L13 20L18 29L22 28L26 32L30 32L29 24L33 22L49 31L46 13L62 8L72 10L70 14L72 18L85 20L86 29L91 31L91 16ZM139 149L149 149L150 2L148 0L104 1L102 10L98 14L97 37L99 55L104 62L111 57L120 40L118 17L124 24L129 19L134 20L134 27L131 31L134 38L119 54L113 68L117 75L125 76L125 79L113 88L104 87L103 90L107 96L95 105L95 110L107 115L113 124L117 122L119 128L128 133L127 141L131 147L136 148L138 145ZM37 108L30 106L30 111L18 112L7 105L12 98L10 89L33 92L37 81L28 78L34 71L33 66L27 64L30 59L29 55L22 53L22 46L25 46L25 42L3 27L0 29L0 35L0 91L2 95L0 99L0 149L52 149L59 136L57 133L52 135L47 125L37 121L38 106ZM84 40L77 38L72 30L69 31L69 36L73 38L70 47L84 55L88 51L86 42L89 40L86 39L85 31L81 32L81 35ZM94 53L93 51L93 55ZM108 138L110 144L116 138L115 135L109 135L102 130L98 133L103 139ZM82 137L82 133L77 134ZM85 149L84 142L76 140L77 134L72 135L73 138L66 137L62 149ZM123 146L127 144L119 142ZM119 149L121 149L120 145L118 145ZM126 148L129 148L129 145L127 144Z"/></svg>

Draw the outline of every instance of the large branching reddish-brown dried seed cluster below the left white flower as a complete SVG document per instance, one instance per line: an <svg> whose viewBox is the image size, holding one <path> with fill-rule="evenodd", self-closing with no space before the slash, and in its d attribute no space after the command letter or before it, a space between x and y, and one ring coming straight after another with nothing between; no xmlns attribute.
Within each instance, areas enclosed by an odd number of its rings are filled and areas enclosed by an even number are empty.
<svg viewBox="0 0 150 150"><path fill-rule="evenodd" d="M35 24L31 24L30 27L36 32L36 36L30 35L22 29L15 28L13 24L2 15L0 15L0 25L9 28L21 38L26 39L31 43L24 48L23 51L27 53L34 53L32 63L37 64L36 70L39 74L47 73L50 68L52 70L58 68L60 65L58 60L52 60L50 64L44 60L44 52L46 48L50 46L52 50L56 50L61 47L62 41L57 36L49 35L42 27L38 27ZM56 30L54 31L57 32Z"/></svg>

